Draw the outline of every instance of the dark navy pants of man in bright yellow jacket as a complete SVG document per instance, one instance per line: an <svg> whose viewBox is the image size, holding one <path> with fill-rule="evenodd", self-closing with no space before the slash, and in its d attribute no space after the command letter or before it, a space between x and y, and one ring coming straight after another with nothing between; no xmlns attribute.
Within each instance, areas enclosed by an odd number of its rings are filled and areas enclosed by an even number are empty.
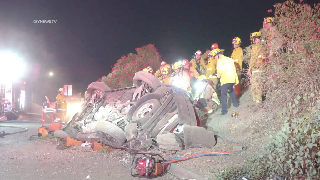
<svg viewBox="0 0 320 180"><path fill-rule="evenodd" d="M231 102L232 102L233 106L235 106L235 107L239 106L239 103L237 102L237 99L236 99L236 93L233 89L234 85L235 85L235 83L228 83L228 84L224 84L221 86L221 102L222 102L221 112L222 112L222 114L227 113L227 93L228 93L228 90L229 90L229 95L230 95Z"/></svg>

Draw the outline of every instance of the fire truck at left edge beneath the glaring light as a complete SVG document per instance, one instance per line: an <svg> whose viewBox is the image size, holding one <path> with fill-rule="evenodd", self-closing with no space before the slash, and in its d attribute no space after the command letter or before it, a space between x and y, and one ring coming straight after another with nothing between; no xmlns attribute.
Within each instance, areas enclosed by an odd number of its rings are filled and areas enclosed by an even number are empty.
<svg viewBox="0 0 320 180"><path fill-rule="evenodd" d="M25 89L25 81L0 83L0 115L15 120L25 112Z"/></svg>

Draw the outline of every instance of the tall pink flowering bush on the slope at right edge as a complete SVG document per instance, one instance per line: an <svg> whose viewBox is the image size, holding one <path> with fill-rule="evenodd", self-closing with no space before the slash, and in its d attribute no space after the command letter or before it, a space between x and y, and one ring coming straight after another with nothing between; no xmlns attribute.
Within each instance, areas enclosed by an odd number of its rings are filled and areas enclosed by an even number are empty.
<svg viewBox="0 0 320 180"><path fill-rule="evenodd" d="M303 1L299 4L286 1L274 7L268 12L274 13L278 34L270 35L268 29L260 30L265 40L262 43L264 75L261 87L266 97L264 105L268 109L283 107L297 95L306 93L316 93L319 98L320 92L320 5L313 8ZM284 53L270 54L277 44L281 45L280 41L283 41L281 49ZM245 49L246 63L249 63L251 48ZM247 76L247 86L250 85L249 79Z"/></svg>

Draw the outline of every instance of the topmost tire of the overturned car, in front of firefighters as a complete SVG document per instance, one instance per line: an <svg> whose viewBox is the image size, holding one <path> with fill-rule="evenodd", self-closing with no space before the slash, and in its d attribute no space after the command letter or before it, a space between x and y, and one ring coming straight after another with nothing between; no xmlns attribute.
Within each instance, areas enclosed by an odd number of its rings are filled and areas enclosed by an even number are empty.
<svg viewBox="0 0 320 180"><path fill-rule="evenodd" d="M133 77L133 83L136 87L139 87L143 82L147 83L154 90L156 90L157 87L162 85L159 79L156 78L154 75L146 71L139 71Z"/></svg>

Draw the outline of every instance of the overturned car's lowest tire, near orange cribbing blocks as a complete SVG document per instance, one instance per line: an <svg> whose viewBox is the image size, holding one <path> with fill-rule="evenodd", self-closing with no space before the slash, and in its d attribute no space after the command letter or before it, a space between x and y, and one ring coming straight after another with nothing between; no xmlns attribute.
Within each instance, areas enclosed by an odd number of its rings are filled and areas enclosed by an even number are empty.
<svg viewBox="0 0 320 180"><path fill-rule="evenodd" d="M102 143L114 148L121 147L125 141L124 130L109 121L99 121L94 132L102 138Z"/></svg>

